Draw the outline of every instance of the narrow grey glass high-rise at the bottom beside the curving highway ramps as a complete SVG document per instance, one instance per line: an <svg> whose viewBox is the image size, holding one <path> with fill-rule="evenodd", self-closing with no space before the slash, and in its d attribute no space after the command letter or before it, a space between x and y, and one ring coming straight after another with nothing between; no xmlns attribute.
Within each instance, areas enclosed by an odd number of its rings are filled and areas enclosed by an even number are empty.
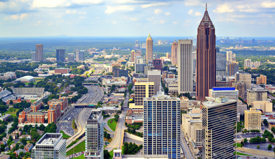
<svg viewBox="0 0 275 159"><path fill-rule="evenodd" d="M103 117L100 110L93 110L85 125L85 159L103 159Z"/></svg>

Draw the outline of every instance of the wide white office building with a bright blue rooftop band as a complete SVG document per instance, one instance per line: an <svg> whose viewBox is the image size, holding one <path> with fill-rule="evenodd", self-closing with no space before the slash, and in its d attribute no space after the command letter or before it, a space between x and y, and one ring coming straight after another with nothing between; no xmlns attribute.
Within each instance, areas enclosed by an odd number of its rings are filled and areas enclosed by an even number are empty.
<svg viewBox="0 0 275 159"><path fill-rule="evenodd" d="M228 97L230 100L238 100L239 91L235 87L213 87L209 89L209 97Z"/></svg>

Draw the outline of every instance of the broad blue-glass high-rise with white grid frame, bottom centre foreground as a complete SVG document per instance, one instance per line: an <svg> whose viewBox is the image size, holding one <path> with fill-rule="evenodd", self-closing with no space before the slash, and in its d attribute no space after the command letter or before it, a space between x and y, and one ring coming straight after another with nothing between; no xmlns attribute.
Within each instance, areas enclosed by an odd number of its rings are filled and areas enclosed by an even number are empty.
<svg viewBox="0 0 275 159"><path fill-rule="evenodd" d="M180 99L160 92L143 100L144 155L180 159Z"/></svg>

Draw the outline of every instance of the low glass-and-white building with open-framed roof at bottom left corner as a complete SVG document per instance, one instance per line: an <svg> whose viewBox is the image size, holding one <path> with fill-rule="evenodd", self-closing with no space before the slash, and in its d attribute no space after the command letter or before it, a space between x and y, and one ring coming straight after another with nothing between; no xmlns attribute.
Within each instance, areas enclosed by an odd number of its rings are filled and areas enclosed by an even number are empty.
<svg viewBox="0 0 275 159"><path fill-rule="evenodd" d="M66 159L62 133L45 133L32 148L32 159Z"/></svg>

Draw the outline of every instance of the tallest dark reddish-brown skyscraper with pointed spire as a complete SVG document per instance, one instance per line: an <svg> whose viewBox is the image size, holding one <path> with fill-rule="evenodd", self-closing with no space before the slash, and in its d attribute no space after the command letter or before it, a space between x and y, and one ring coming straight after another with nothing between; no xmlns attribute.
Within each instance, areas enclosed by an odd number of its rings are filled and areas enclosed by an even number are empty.
<svg viewBox="0 0 275 159"><path fill-rule="evenodd" d="M207 6L197 35L197 100L205 101L216 85L216 35Z"/></svg>

